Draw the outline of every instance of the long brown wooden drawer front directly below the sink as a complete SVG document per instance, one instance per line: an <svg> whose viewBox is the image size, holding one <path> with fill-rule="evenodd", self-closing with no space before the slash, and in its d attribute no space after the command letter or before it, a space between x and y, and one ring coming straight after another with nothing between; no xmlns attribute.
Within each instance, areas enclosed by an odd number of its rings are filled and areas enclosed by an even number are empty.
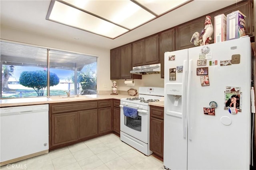
<svg viewBox="0 0 256 170"><path fill-rule="evenodd" d="M87 110L87 109L96 109L97 102L68 102L62 103L58 105L51 105L51 113L64 113L69 111L79 111L79 110Z"/></svg>

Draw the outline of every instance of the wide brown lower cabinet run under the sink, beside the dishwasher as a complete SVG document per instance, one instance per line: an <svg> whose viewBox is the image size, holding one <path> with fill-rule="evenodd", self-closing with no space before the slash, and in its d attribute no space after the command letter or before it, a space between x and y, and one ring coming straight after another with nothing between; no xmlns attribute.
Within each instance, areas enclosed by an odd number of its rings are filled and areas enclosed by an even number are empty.
<svg viewBox="0 0 256 170"><path fill-rule="evenodd" d="M50 104L49 150L112 132L112 100Z"/></svg>

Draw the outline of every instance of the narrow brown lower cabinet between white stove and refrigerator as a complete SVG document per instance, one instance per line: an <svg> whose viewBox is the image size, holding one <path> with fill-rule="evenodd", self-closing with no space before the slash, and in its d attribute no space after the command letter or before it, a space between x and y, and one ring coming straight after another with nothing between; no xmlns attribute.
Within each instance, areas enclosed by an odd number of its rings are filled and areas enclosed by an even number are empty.
<svg viewBox="0 0 256 170"><path fill-rule="evenodd" d="M150 106L150 150L164 158L164 107Z"/></svg>

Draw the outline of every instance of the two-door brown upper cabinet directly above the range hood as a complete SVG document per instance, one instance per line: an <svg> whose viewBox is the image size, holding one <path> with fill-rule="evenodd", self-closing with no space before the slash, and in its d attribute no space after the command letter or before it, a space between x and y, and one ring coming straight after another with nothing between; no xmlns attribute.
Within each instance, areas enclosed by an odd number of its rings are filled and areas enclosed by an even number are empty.
<svg viewBox="0 0 256 170"><path fill-rule="evenodd" d="M159 35L151 35L132 43L132 66L159 63Z"/></svg>

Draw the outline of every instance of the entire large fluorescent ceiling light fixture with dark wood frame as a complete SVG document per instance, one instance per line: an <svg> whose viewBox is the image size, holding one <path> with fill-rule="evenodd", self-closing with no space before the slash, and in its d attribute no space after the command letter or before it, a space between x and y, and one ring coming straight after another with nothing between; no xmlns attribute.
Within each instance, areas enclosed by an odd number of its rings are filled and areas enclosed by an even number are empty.
<svg viewBox="0 0 256 170"><path fill-rule="evenodd" d="M191 0L52 0L46 20L114 39Z"/></svg>

